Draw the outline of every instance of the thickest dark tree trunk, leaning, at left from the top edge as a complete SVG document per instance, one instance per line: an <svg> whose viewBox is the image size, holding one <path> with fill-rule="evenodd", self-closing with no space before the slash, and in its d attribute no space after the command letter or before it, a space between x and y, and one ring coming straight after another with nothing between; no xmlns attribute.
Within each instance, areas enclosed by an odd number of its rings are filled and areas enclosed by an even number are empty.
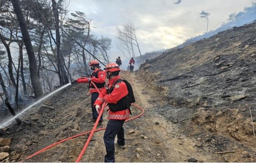
<svg viewBox="0 0 256 164"><path fill-rule="evenodd" d="M31 39L28 33L28 28L27 28L25 19L23 17L20 2L19 0L11 0L11 1L14 7L14 12L18 18L20 31L23 37L23 42L26 46L26 50L28 53L29 72L30 72L33 90L34 90L35 96L38 98L43 96L43 92L42 92L41 82L39 80L39 77L37 76L37 60L36 60Z"/></svg>

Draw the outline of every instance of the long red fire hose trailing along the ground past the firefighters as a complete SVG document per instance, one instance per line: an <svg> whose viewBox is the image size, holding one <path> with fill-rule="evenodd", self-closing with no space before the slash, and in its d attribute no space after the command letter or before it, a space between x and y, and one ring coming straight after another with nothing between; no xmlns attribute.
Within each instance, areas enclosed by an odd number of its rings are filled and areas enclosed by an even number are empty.
<svg viewBox="0 0 256 164"><path fill-rule="evenodd" d="M129 76L130 76L130 75L129 75ZM130 77L130 78L131 78L131 77ZM132 78L131 78L131 79L132 79ZM100 93L100 91L98 90L98 88L96 87L96 85L95 85L93 82L91 82L91 83L92 83L93 86L97 89L97 91ZM141 113L140 113L139 115L135 116L135 117L126 119L125 122L130 121L130 120L135 119L135 118L138 118L138 117L140 117L142 114L144 114L144 109L143 109L142 107L140 107L139 105L136 105L136 104L134 104L134 103L132 103L131 105L135 106L136 108L139 108L139 109L141 110ZM104 103L102 104L102 108L101 108L101 110L100 110L100 113L99 113L99 115L98 115L98 118L97 118L97 120L96 120L96 122L95 122L95 124L94 124L94 126L93 126L93 129L92 129L91 131L83 132L83 133L74 135L74 136L72 136L72 137L65 138L65 139L63 139L63 140L61 140L61 141L58 141L58 142L56 142L56 143L54 143L54 144L52 144L52 145L50 145L50 146L47 146L47 147L43 148L42 150L37 151L37 152L34 153L33 155L28 156L26 159L30 159L30 158L34 157L35 155L38 155L38 154L44 152L45 150L48 150L48 149L50 149L51 147L54 147L54 146L56 146L56 145L58 145L58 144L60 144L60 143L62 143L62 142L68 141L68 140L73 139L73 138L76 138L76 137L84 136L84 135L90 133L90 135L89 135L89 137L88 137L88 139L87 139L87 141L86 141L86 143L85 143L85 145L84 145L84 147L83 147L81 153L79 154L78 158L77 158L76 161L75 161L75 162L80 162L81 158L83 157L83 155L84 155L84 153L85 153L85 150L87 149L87 147L88 147L88 145L89 145L89 142L91 141L91 138L93 137L94 132L98 132L98 131L101 131L101 130L105 130L105 129L106 129L106 128L98 128L98 129L96 129L96 128L97 128L97 125L98 125L98 122L99 122L99 120L100 120L100 117L101 117L101 115L102 115L102 113L103 113L103 111L104 111L105 106L106 106L106 102L104 102ZM21 162L23 162L23 161L26 160L26 159L23 159Z"/></svg>

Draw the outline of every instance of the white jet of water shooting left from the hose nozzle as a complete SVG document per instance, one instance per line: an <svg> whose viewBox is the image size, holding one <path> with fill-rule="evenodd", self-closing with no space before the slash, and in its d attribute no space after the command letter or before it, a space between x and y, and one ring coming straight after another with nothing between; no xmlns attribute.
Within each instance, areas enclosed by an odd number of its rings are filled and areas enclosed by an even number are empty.
<svg viewBox="0 0 256 164"><path fill-rule="evenodd" d="M8 126L10 123L12 123L12 121L14 121L15 118L19 117L19 115L23 114L24 112L26 112L28 109L32 108L34 105L37 105L38 103L40 103L42 100L45 100L46 98L50 97L51 95L57 93L58 91L61 91L62 89L64 89L65 87L68 87L70 86L71 84L75 83L76 81L74 82L70 82L60 88L58 88L57 90L47 94L46 96L42 97L41 99L37 100L36 102L34 102L32 105L29 105L27 108L23 109L22 112L20 112L19 114L17 114L16 116L14 116L13 118L9 119L8 121L6 121L5 123L1 124L0 125L0 129L1 128L4 128L6 126Z"/></svg>

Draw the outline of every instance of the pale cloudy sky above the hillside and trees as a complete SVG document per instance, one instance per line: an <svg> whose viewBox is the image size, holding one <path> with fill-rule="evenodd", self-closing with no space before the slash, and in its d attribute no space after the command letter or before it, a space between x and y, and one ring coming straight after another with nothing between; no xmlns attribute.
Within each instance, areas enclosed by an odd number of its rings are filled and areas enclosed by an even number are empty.
<svg viewBox="0 0 256 164"><path fill-rule="evenodd" d="M154 50L169 49L186 39L206 32L207 22L200 12L209 12L209 31L226 22L228 15L250 7L256 0L71 0L70 13L84 12L92 19L92 33L98 38L112 39L110 58L125 58L116 46L116 26L132 22L142 55ZM135 56L139 53L136 51Z"/></svg>

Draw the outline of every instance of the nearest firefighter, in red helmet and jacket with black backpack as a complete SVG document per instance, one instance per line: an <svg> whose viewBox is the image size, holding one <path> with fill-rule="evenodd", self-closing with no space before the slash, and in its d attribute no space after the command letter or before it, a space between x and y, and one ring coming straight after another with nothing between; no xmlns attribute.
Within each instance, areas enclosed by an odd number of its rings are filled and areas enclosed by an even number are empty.
<svg viewBox="0 0 256 164"><path fill-rule="evenodd" d="M115 146L126 147L123 124L130 117L129 107L124 105L127 104L125 101L128 97L128 89L126 83L119 76L120 68L118 64L110 63L104 69L109 83L105 89L101 90L94 105L99 113L103 102L106 101L108 103L109 121L103 137L107 152L104 162L115 162ZM117 142L114 143L116 135Z"/></svg>

